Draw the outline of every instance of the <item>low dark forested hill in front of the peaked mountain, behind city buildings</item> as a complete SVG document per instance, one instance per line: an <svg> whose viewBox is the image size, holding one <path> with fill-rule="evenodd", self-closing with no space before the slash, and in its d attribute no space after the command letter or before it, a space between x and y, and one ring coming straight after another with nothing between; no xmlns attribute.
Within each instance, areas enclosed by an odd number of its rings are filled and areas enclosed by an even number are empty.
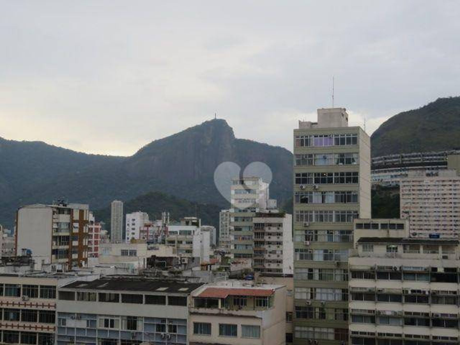
<svg viewBox="0 0 460 345"><path fill-rule="evenodd" d="M169 196L161 192L150 192L138 196L123 204L123 212L132 213L144 211L150 219L161 219L161 212L168 211L171 220L179 220L182 217L197 216L202 225L213 225L219 231L219 211L221 208L213 204L202 204ZM105 229L110 229L110 205L94 211L98 220L105 222Z"/></svg>

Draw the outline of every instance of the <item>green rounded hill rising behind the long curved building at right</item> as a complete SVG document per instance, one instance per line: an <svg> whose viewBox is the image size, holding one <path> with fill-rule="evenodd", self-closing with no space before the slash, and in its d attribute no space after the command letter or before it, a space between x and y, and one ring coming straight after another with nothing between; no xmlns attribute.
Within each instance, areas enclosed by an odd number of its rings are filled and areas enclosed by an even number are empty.
<svg viewBox="0 0 460 345"><path fill-rule="evenodd" d="M460 97L394 115L371 136L372 156L460 149Z"/></svg>

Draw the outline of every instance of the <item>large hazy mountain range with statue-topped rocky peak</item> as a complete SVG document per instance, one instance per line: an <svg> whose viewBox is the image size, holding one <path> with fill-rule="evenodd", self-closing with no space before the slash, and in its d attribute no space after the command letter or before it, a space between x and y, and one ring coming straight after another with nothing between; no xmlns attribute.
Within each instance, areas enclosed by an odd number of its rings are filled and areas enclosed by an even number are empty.
<svg viewBox="0 0 460 345"><path fill-rule="evenodd" d="M150 191L228 207L213 179L215 168L224 161L242 168L252 161L264 162L273 173L270 195L279 202L291 196L292 153L235 138L221 119L155 140L129 157L88 155L42 142L0 138L0 224L11 228L21 205L64 198L98 209L114 199L127 201Z"/></svg>

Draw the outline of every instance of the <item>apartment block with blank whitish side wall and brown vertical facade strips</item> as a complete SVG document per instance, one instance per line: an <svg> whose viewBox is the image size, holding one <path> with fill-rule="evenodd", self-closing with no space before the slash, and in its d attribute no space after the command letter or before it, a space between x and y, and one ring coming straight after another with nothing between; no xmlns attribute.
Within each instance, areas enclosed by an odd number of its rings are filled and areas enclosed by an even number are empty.
<svg viewBox="0 0 460 345"><path fill-rule="evenodd" d="M57 202L20 207L16 220L16 253L30 251L38 269L58 264L69 270L88 260L89 206Z"/></svg>

